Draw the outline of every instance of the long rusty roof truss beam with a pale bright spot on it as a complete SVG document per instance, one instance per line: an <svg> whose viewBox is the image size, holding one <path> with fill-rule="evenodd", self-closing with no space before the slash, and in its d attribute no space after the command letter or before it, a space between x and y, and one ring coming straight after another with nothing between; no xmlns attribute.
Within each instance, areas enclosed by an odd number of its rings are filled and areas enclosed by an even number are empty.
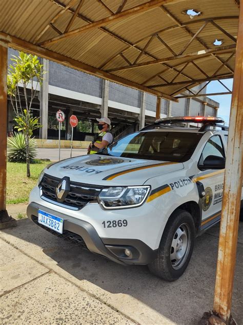
<svg viewBox="0 0 243 325"><path fill-rule="evenodd" d="M112 72L112 71L133 69L133 68L158 64L158 63L174 61L174 60L178 60L178 59L187 59L187 58L191 58L192 56L195 56L195 59L193 59L193 60L197 60L198 58L200 58L200 59L201 58L206 58L207 56L210 56L212 53L220 53L220 54L225 53L225 52L227 53L227 52L229 52L229 50L234 50L235 48L236 48L235 44L220 46L220 47L217 47L217 48L214 48L214 49L201 50L201 51L187 53L187 54L169 56L168 58L157 59L157 60L147 61L147 62L143 62L143 63L137 63L137 64L133 64L131 66L124 66L124 67L119 67L119 68L108 69L106 71L107 72ZM186 62L183 62L183 63L186 63ZM183 63L181 63L181 64L183 64Z"/></svg>

